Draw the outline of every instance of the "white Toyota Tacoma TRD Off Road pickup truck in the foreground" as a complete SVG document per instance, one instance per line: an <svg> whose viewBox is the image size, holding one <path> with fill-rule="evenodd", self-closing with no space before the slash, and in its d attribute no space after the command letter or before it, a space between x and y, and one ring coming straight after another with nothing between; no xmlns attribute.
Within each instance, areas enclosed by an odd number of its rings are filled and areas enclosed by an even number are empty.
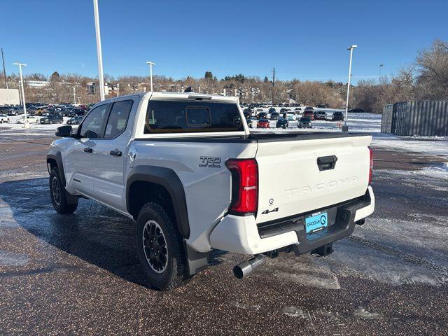
<svg viewBox="0 0 448 336"><path fill-rule="evenodd" d="M327 255L374 210L369 134L249 132L235 97L148 92L96 104L48 152L59 214L78 198L137 221L149 281L167 290L207 267L213 248Z"/></svg>

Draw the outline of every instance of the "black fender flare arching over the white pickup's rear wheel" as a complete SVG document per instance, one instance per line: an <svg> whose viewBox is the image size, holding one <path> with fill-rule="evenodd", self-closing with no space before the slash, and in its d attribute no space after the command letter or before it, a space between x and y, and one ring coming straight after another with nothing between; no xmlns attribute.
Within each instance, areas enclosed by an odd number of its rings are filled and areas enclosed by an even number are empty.
<svg viewBox="0 0 448 336"><path fill-rule="evenodd" d="M139 165L132 168L126 181L126 207L130 211L130 186L137 181L144 181L163 186L172 198L176 223L182 237L190 237L190 224L188 222L187 201L185 190L179 176L173 169L158 166Z"/></svg>

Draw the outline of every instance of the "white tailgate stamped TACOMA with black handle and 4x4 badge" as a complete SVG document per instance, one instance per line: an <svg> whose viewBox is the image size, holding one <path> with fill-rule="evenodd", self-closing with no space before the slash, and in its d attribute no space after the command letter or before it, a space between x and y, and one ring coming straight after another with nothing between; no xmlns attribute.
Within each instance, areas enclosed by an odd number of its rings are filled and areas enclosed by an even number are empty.
<svg viewBox="0 0 448 336"><path fill-rule="evenodd" d="M370 134L259 139L257 223L304 214L364 195Z"/></svg>

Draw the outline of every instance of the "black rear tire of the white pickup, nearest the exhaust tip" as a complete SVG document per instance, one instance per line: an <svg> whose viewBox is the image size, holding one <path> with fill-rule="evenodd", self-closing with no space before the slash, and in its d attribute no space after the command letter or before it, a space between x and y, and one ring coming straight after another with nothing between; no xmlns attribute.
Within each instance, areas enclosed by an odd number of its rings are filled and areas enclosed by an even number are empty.
<svg viewBox="0 0 448 336"><path fill-rule="evenodd" d="M150 221L151 223L155 222L158 224L162 230L163 238L166 240L167 262L165 269L159 269L159 272L155 272L150 265L150 261L146 258L147 254L145 251L151 253L148 250L148 241L146 241L146 249L144 247L144 231ZM148 232L146 231L147 234ZM137 217L136 244L140 263L148 276L149 283L153 287L158 290L171 290L179 286L183 279L187 277L186 256L183 249L182 237L179 235L179 232L165 209L160 207L159 204L151 202L141 208Z"/></svg>

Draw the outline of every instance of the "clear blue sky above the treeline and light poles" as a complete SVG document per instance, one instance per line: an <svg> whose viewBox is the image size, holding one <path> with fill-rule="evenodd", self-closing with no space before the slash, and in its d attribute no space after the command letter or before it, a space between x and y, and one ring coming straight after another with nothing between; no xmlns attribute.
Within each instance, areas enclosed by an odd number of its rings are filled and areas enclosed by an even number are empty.
<svg viewBox="0 0 448 336"><path fill-rule="evenodd" d="M2 0L6 71L97 76L91 0ZM346 81L396 73L435 38L448 40L448 1L99 0L104 72L183 78L212 71ZM24 20L21 20L21 19Z"/></svg>

